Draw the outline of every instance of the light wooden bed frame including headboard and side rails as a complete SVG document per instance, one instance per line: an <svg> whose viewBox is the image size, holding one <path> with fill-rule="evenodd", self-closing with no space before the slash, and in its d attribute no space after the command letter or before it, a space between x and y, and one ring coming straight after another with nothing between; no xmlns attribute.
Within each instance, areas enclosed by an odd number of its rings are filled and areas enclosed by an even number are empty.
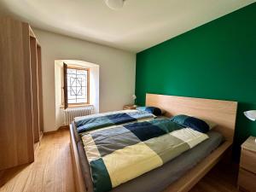
<svg viewBox="0 0 256 192"><path fill-rule="evenodd" d="M201 119L211 120L218 124L214 129L225 137L222 143L206 159L193 167L189 172L172 183L163 192L187 192L209 172L218 160L230 148L233 143L237 102L220 101L212 99L191 98L183 96L164 96L147 94L146 106L154 106L166 110L166 116L177 114L189 114ZM81 172L79 153L73 133L73 125L70 125L71 154L73 159L73 173L77 192L86 192L84 177Z"/></svg>

